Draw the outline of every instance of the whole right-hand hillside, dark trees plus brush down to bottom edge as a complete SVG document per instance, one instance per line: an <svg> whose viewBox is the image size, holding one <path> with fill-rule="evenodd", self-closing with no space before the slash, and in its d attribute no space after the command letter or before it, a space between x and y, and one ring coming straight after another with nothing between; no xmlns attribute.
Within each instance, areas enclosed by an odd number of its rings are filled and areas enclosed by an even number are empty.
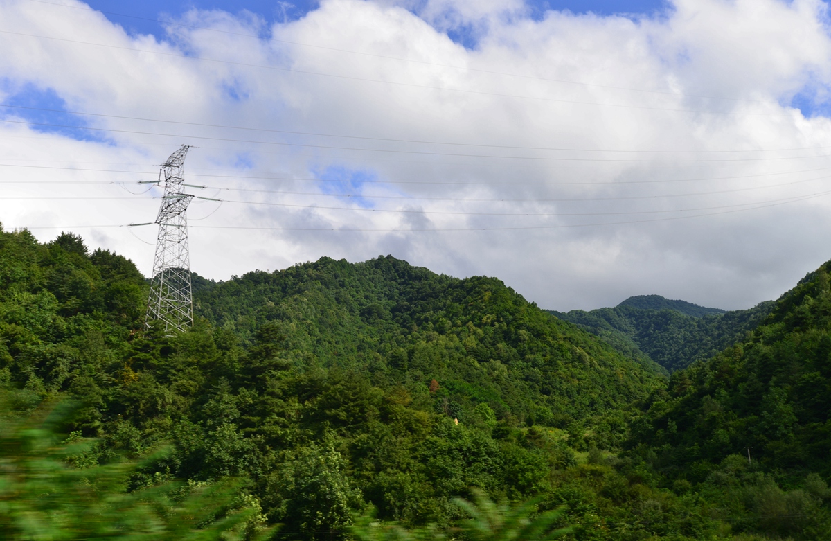
<svg viewBox="0 0 831 541"><path fill-rule="evenodd" d="M708 493L743 529L829 539L831 263L745 339L673 374L628 446L666 483Z"/></svg>

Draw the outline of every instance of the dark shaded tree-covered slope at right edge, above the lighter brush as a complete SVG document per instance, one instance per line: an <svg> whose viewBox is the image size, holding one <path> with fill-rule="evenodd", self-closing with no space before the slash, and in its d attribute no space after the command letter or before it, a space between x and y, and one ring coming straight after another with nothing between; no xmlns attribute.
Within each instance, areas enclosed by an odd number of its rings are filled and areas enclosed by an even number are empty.
<svg viewBox="0 0 831 541"><path fill-rule="evenodd" d="M829 270L809 273L744 340L673 375L641 440L679 467L750 448L768 468L831 475Z"/></svg>

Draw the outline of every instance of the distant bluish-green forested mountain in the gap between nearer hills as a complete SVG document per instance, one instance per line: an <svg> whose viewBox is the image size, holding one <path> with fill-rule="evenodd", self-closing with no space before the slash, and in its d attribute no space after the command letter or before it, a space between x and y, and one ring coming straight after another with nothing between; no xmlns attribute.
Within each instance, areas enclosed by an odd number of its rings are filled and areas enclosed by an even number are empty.
<svg viewBox="0 0 831 541"><path fill-rule="evenodd" d="M668 371L712 357L761 322L774 302L725 312L659 295L631 297L617 307L551 313L596 334L628 357Z"/></svg>

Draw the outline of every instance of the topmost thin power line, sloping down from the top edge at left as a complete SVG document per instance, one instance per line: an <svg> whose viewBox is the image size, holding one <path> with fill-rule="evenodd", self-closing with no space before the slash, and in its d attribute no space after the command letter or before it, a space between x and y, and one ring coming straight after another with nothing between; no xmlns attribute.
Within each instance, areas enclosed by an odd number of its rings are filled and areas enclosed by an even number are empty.
<svg viewBox="0 0 831 541"><path fill-rule="evenodd" d="M138 17L138 16L135 16L135 15L127 15L125 13L116 13L116 12L107 12L107 11L103 11L103 10L99 11L99 10L93 9L91 7L67 6L66 4L59 4L59 3L54 3L54 2L44 2L43 0L29 0L29 1L30 2L42 3L42 4L49 4L49 5L58 6L58 7L69 7L71 9L80 9L80 10L90 11L90 12L101 12L101 13L104 13L105 15L115 15L116 17L128 17L128 18L137 19L137 20L140 20L140 21L157 22L161 25L171 25L171 26L177 26L177 27L191 28L191 29L194 29L194 30L206 30L206 31L209 31L209 32L218 32L218 33L221 33L221 34L228 34L228 35L231 35L231 36L253 37L253 38L258 39L258 40L260 39L260 37L256 34L246 34L246 33L243 33L243 32L230 32L228 30L219 30L218 28L197 27L197 26L194 26L194 25L184 24L184 23L181 23L181 22L161 21L159 19L153 19L153 18L149 18L149 17ZM273 42L286 43L288 45L299 45L301 47L312 47L312 48L316 48L316 49L322 49L322 50L325 50L325 51L347 52L347 53L350 53L350 54L362 55L362 56L366 56L366 57L386 58L388 60L407 61L407 62L413 62L413 63L416 63L416 64L423 64L425 66L447 67L447 68L451 68L451 69L455 69L455 70L476 71L476 72L479 72L479 73L489 73L491 75L521 77L521 78L524 78L524 79L534 79L534 80L537 80L537 81L558 82L558 83L565 83L565 84L568 84L568 85L578 85L578 86L593 86L593 87L596 87L596 88L608 88L608 89L612 89L612 90L646 92L646 93L649 93L649 94L661 94L661 95L665 95L665 96L682 96L682 97L703 98L703 99L706 99L706 100L726 100L726 101L744 101L744 102L748 102L748 103L765 103L764 101L760 101L760 100L746 100L746 99L742 99L742 98L730 98L730 97L723 97L723 96L703 96L703 95L685 94L685 93L673 92L673 91L655 91L655 90L646 90L646 89L642 89L642 88L630 88L630 87L627 87L627 86L598 85L596 83L588 83L588 82L582 82L582 81L568 81L568 80L565 80L565 79L552 79L552 78L548 78L548 77L531 76L531 75L519 74L519 73L508 73L508 72L504 72L504 71L483 70L483 69L470 67L470 66L452 66L450 64L439 64L439 63L435 63L435 62L415 60L415 59L412 59L412 58L390 57L390 56L386 56L386 55L378 55L378 54L371 53L371 52L352 51L352 50L349 50L349 49L340 49L340 48L337 48L337 47L326 47L326 46L322 46L322 45L314 45L314 44L311 44L311 43L292 42L292 41L288 41L288 40L278 39L278 38L273 37L273 36L270 37L269 39L270 39L270 41L273 41Z"/></svg>

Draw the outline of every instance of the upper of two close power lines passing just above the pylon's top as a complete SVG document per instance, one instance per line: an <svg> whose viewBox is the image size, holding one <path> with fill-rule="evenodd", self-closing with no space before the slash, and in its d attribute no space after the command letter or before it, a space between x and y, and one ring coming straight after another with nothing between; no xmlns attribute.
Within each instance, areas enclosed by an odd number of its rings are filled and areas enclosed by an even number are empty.
<svg viewBox="0 0 831 541"><path fill-rule="evenodd" d="M35 0L32 0L35 1ZM180 124L180 125L194 125L204 128L220 128L224 130L249 130L262 131L266 133L280 133L288 135L312 135L316 137L335 137L342 139L359 139L359 140L375 140L393 143L413 143L419 145L450 145L450 146L475 146L483 148L494 149L514 149L514 150L555 150L563 152L603 152L603 153L640 153L640 154L726 154L726 153L747 153L747 152L787 152L794 150L824 150L831 148L829 146L805 146L793 147L786 149L755 149L755 150L604 150L604 149L579 149L568 147L547 147L547 146L522 146L522 145L488 145L484 143L460 143L453 141L435 141L435 140L416 140L416 139L396 139L392 137L369 137L366 135L339 135L326 134L312 131L291 131L291 130L273 130L270 128L257 128L250 126L238 125L219 125L219 124L204 124L200 122L186 122L183 120L162 120L155 118L145 118L141 116L120 116L109 115L104 113L90 113L86 111L64 111L61 109L47 109L45 107L31 107L31 106L12 106L0 103L0 107L7 107L12 109L25 109L27 111L46 111L52 113L64 113L66 115L78 116L97 116L102 118L117 118L120 120L141 120L145 122L160 122L165 124ZM82 126L81 126L82 127Z"/></svg>

